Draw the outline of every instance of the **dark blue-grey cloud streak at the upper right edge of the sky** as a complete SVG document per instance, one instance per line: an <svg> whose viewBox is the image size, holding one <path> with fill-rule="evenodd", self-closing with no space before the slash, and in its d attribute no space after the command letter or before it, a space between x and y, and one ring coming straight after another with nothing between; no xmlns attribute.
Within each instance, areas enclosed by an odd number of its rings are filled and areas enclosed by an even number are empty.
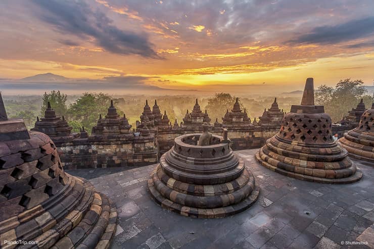
<svg viewBox="0 0 374 249"><path fill-rule="evenodd" d="M374 33L374 17L352 20L335 26L321 26L303 34L292 43L337 44L367 37Z"/></svg>

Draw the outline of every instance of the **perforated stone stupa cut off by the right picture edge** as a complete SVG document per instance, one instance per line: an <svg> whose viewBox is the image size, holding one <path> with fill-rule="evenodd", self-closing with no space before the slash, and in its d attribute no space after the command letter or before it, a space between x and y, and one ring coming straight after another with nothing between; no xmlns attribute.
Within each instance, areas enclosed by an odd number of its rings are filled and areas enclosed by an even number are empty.
<svg viewBox="0 0 374 249"><path fill-rule="evenodd" d="M374 103L361 116L356 128L339 139L349 156L374 163Z"/></svg>

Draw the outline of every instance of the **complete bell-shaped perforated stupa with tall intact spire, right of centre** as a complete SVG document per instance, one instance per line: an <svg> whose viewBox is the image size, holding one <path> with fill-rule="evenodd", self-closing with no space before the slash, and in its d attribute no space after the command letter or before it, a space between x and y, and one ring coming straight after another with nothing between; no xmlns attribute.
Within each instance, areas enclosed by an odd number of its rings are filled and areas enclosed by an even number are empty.
<svg viewBox="0 0 374 249"><path fill-rule="evenodd" d="M293 105L279 132L256 154L266 168L306 181L351 183L362 173L332 137L332 122L323 106L314 105L313 78L306 80L301 105Z"/></svg>

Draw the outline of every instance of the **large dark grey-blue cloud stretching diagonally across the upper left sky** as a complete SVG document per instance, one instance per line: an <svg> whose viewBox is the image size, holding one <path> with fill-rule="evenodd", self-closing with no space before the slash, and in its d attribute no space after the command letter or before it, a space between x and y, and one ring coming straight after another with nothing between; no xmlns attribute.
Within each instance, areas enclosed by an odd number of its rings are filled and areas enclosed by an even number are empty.
<svg viewBox="0 0 374 249"><path fill-rule="evenodd" d="M39 18L53 25L58 32L73 34L82 39L93 37L97 45L112 53L161 59L145 34L117 28L103 12L99 9L92 11L85 2L73 0L33 0L32 2L41 8Z"/></svg>

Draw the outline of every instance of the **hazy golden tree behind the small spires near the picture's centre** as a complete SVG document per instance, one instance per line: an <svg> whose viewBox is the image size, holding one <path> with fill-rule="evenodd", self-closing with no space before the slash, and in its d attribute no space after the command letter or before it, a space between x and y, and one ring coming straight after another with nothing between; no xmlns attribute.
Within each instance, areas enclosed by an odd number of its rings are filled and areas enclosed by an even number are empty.
<svg viewBox="0 0 374 249"><path fill-rule="evenodd" d="M216 93L213 98L208 98L208 105L205 107L207 109L209 117L212 122L218 118L221 121L221 117L224 117L226 110L232 109L233 104L235 104L236 97L231 96L229 93ZM243 110L243 104L239 99L240 108Z"/></svg>

